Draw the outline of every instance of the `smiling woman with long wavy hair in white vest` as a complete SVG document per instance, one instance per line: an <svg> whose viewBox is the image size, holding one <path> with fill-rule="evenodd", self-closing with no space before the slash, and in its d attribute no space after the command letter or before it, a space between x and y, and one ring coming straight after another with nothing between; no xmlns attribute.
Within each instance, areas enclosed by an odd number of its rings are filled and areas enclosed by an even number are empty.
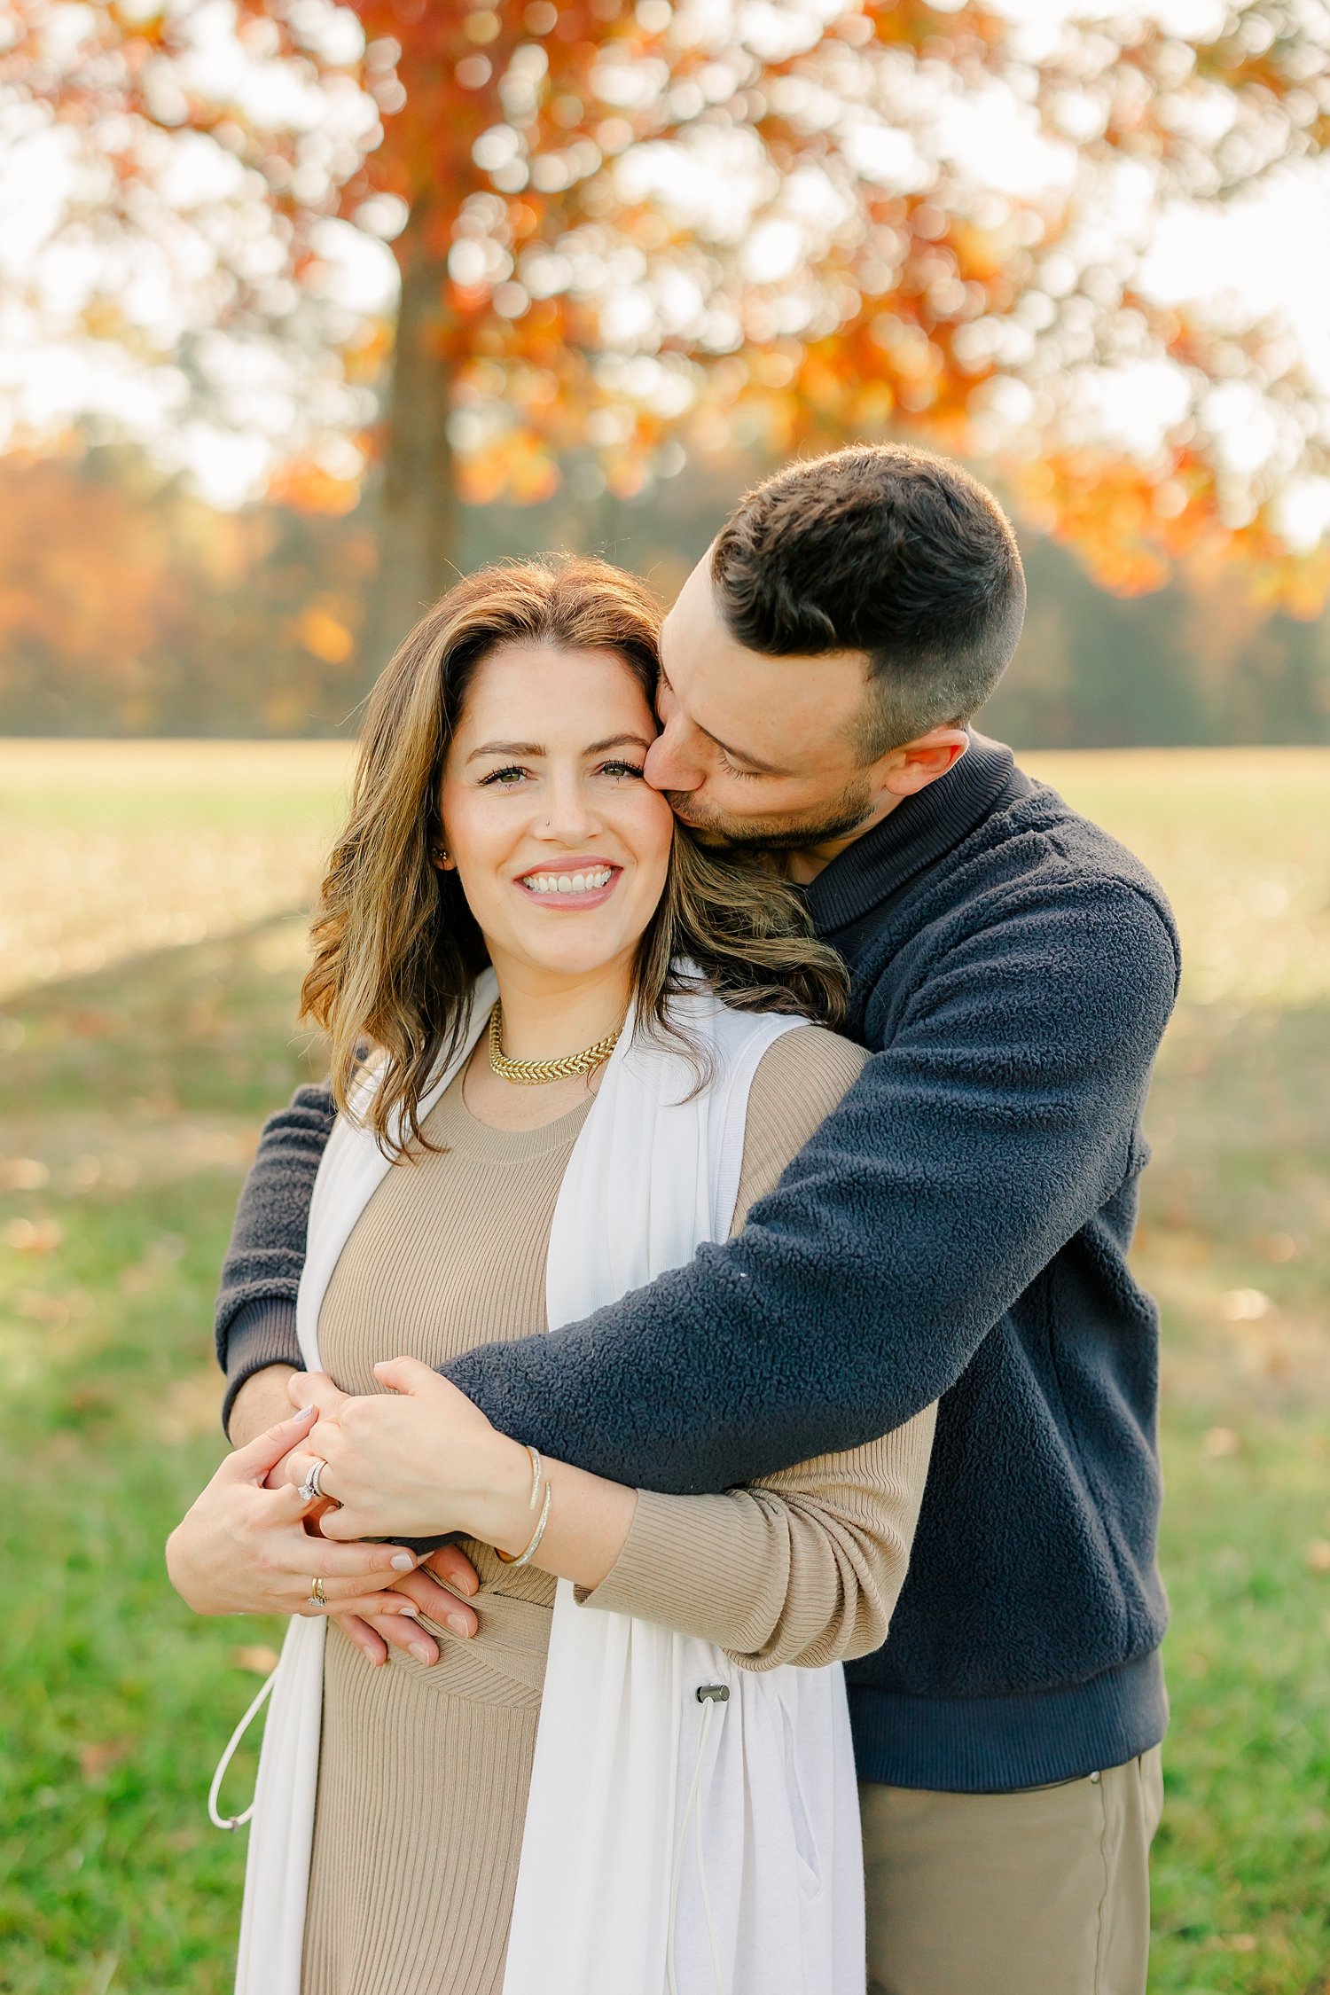
<svg viewBox="0 0 1330 1995"><path fill-rule="evenodd" d="M654 682L636 581L504 565L451 591L371 698L303 992L343 1111L299 1299L321 1371L293 1389L319 1416L223 1464L169 1546L213 1610L241 1500L271 1506L255 1606L303 1544L307 1574L327 1560L287 1600L241 1989L863 1987L833 1666L883 1640L931 1414L748 1490L660 1496L540 1460L433 1369L740 1227L863 1059L806 1023L843 990L796 898L642 780ZM327 1542L293 1544L315 1512ZM357 1654L367 1618L401 1630L411 1606L409 1554L351 1542L389 1532L463 1534L481 1576L471 1640L427 1618L437 1668ZM357 1620L323 1644L327 1608Z"/></svg>

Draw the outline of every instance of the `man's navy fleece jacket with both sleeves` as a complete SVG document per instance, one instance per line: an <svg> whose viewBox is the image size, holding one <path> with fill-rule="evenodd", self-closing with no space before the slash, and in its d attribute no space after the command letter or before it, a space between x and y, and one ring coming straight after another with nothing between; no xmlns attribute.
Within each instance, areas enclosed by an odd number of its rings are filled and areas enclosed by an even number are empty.
<svg viewBox="0 0 1330 1995"><path fill-rule="evenodd" d="M849 1666L859 1774L991 1792L1155 1746L1157 1315L1127 1267L1178 974L1145 868L975 738L808 890L873 1059L744 1233L449 1377L506 1432L724 1490L941 1398L891 1632ZM269 1123L217 1317L231 1391L299 1363L327 1089Z"/></svg>

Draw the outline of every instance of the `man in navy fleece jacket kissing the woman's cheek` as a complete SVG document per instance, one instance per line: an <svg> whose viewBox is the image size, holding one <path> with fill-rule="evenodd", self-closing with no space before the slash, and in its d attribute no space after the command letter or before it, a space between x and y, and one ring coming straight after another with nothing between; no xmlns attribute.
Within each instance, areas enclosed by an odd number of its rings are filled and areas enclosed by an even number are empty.
<svg viewBox="0 0 1330 1995"><path fill-rule="evenodd" d="M508 1432L660 1490L941 1398L889 1640L847 1672L875 1995L1145 1989L1164 1598L1127 1247L1176 938L1131 854L967 728L1023 602L1005 517L943 459L855 447L740 503L666 618L646 772L704 836L788 854L873 1057L736 1241L449 1367ZM301 1089L241 1199L239 1438L299 1363L329 1123Z"/></svg>

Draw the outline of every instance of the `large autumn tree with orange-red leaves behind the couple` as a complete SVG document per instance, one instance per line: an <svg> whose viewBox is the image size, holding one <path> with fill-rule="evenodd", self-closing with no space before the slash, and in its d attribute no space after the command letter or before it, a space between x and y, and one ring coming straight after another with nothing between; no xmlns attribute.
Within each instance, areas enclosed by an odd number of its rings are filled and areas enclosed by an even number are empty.
<svg viewBox="0 0 1330 1995"><path fill-rule="evenodd" d="M213 435L285 417L285 493L351 489L337 443L381 361L379 329L321 291L329 225L405 223L379 431L393 632L449 579L459 493L536 499L570 471L630 495L686 453L885 431L993 463L1119 589L1236 547L1270 589L1316 581L1278 533L1326 447L1296 347L1141 279L1153 207L1238 200L1324 140L1320 0L1218 4L1190 40L1149 12L1037 40L975 0L357 0L363 34L325 0L245 0L225 60L219 10L191 0L10 12L0 108L8 90L106 148L104 235L166 229L191 136L235 164L243 196L195 227L191 361L162 367L181 433L201 395ZM102 339L110 293L86 313ZM235 391L239 349L257 393L245 365ZM1115 433L1163 375L1157 435ZM1266 419L1260 463L1224 449L1232 387Z"/></svg>

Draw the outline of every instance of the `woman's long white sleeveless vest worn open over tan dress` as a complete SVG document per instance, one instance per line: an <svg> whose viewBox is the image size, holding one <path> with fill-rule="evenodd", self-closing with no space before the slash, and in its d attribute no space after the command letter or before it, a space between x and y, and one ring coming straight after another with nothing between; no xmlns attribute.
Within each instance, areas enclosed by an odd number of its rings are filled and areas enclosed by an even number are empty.
<svg viewBox="0 0 1330 1995"><path fill-rule="evenodd" d="M495 1001L487 972L469 1057ZM696 994L710 1059L634 1033L604 1069L554 1211L550 1333L724 1239L758 1061L798 1019ZM351 1229L389 1163L339 1117L297 1299L305 1367ZM385 1353L391 1355L391 1353ZM520 1438L520 1436L518 1436ZM237 1995L299 1995L323 1708L323 1620L295 1616L273 1672L245 1867ZM710 1696L698 1698L700 1690ZM504 1995L863 1995L863 1861L839 1666L738 1668L558 1582Z"/></svg>

